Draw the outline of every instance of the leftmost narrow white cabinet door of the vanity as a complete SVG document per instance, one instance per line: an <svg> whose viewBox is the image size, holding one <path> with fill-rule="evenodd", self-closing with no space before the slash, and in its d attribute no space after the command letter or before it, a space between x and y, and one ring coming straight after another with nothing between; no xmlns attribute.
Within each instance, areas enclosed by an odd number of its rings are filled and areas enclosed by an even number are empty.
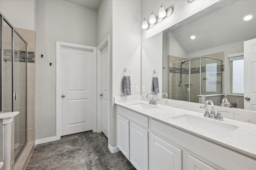
<svg viewBox="0 0 256 170"><path fill-rule="evenodd" d="M117 147L129 159L129 121L120 115L117 117Z"/></svg>

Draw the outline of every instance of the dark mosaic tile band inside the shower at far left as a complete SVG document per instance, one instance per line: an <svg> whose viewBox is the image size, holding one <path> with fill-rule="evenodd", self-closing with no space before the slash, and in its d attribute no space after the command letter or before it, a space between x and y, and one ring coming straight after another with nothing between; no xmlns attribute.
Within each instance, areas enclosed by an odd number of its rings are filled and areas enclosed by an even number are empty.
<svg viewBox="0 0 256 170"><path fill-rule="evenodd" d="M35 63L35 52L28 51L28 63ZM12 61L12 50L4 49L4 61ZM26 51L14 50L14 62L26 62Z"/></svg>

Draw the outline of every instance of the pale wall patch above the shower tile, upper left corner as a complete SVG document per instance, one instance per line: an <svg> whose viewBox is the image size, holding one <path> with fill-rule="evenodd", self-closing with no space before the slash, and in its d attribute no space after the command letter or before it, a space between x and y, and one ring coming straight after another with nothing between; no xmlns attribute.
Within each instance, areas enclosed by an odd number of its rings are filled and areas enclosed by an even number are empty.
<svg viewBox="0 0 256 170"><path fill-rule="evenodd" d="M0 0L0 12L14 27L36 30L35 0Z"/></svg>

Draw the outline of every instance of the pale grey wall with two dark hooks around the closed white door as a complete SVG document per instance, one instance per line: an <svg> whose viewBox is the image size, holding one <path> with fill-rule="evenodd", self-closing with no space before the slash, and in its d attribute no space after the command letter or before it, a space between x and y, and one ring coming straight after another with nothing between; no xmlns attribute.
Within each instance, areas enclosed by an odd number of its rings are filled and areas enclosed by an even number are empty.
<svg viewBox="0 0 256 170"><path fill-rule="evenodd" d="M36 139L56 135L56 41L96 47L96 28L96 10L64 0L36 1Z"/></svg>

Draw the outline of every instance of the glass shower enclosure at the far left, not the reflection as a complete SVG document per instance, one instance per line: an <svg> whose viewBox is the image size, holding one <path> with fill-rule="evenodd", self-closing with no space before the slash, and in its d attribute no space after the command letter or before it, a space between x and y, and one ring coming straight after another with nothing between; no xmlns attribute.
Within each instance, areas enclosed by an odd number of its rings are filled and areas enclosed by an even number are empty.
<svg viewBox="0 0 256 170"><path fill-rule="evenodd" d="M0 13L1 111L19 111L14 118L14 160L26 145L27 42Z"/></svg>

